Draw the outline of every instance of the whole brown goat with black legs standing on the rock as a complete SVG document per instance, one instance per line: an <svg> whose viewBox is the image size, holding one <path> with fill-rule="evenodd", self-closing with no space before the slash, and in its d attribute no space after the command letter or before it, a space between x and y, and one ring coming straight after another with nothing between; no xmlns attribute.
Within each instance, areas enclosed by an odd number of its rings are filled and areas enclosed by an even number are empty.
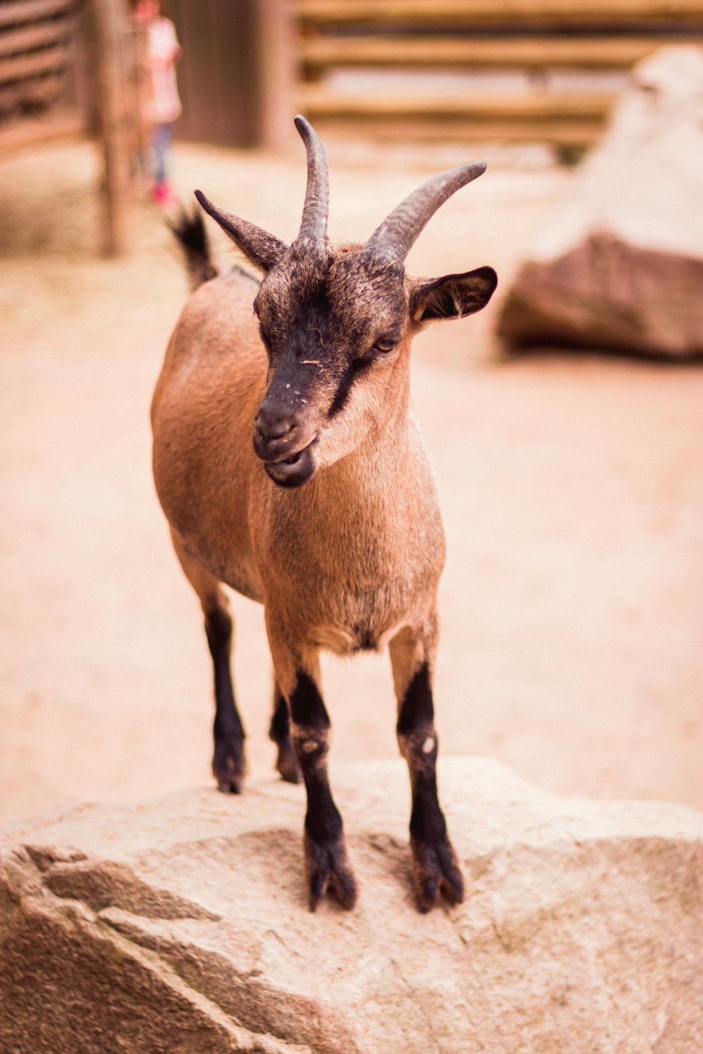
<svg viewBox="0 0 703 1054"><path fill-rule="evenodd" d="M154 477L204 613L218 786L239 792L245 770L226 583L265 606L277 768L291 781L301 773L307 790L310 907L328 884L351 907L356 881L328 782L318 656L388 644L410 769L414 891L429 911L440 891L461 901L464 882L436 794L432 669L445 543L409 408L410 348L426 323L483 308L496 278L491 268L412 278L404 261L436 209L485 165L435 176L366 245L333 247L325 153L308 122L295 123L308 187L290 247L196 191L263 278L235 267L185 306L154 394ZM197 285L212 274L207 241L182 225L180 234Z"/></svg>

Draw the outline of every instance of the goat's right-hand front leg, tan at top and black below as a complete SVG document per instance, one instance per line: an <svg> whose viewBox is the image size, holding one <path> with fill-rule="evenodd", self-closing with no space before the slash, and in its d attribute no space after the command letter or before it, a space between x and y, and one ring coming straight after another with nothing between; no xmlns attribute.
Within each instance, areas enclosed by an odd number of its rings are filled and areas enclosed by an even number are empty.
<svg viewBox="0 0 703 1054"><path fill-rule="evenodd" d="M421 912L433 906L440 891L452 904L464 899L464 879L437 799L431 668L434 636L432 629L417 632L406 628L390 643L398 704L396 733L410 769L412 878Z"/></svg>

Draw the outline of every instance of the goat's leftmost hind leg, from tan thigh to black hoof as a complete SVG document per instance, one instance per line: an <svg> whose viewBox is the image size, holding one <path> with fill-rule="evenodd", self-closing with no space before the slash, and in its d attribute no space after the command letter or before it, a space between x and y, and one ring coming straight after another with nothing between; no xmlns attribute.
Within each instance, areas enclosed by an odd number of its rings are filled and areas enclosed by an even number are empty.
<svg viewBox="0 0 703 1054"><path fill-rule="evenodd" d="M217 786L226 794L239 794L247 769L245 729L237 710L232 686L232 617L224 590L214 574L192 557L179 536L172 531L174 549L185 578L200 599L206 621L206 637L212 656L215 679L215 749L212 760Z"/></svg>

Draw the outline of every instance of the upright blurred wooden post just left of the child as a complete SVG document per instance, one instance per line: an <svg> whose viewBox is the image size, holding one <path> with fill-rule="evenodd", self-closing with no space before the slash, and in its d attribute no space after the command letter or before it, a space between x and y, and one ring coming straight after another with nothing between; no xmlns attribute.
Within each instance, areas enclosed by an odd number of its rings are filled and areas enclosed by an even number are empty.
<svg viewBox="0 0 703 1054"><path fill-rule="evenodd" d="M130 248L130 114L124 55L124 0L93 0L98 39L100 137L104 154L102 248L109 256Z"/></svg>

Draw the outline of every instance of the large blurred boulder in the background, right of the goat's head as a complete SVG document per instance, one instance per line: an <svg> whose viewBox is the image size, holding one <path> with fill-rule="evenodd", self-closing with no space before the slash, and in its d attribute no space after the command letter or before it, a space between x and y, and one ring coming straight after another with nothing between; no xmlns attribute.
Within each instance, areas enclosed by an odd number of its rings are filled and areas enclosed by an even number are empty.
<svg viewBox="0 0 703 1054"><path fill-rule="evenodd" d="M499 334L672 357L703 354L703 50L634 70L509 291Z"/></svg>

